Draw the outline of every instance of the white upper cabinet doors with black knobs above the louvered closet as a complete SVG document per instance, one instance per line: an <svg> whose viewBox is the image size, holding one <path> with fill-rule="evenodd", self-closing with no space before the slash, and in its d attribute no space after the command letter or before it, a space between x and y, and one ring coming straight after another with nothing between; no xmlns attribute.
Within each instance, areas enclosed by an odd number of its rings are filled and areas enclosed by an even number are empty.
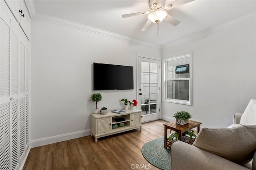
<svg viewBox="0 0 256 170"><path fill-rule="evenodd" d="M4 0L10 8L15 19L20 23L20 27L30 39L30 15L24 0Z"/></svg>

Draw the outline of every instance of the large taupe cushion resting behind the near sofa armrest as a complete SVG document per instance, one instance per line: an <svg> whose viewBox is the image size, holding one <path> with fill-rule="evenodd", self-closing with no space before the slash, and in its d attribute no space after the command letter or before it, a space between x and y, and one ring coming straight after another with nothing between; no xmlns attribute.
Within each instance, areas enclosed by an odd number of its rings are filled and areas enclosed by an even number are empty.
<svg viewBox="0 0 256 170"><path fill-rule="evenodd" d="M237 164L246 164L252 160L256 150L256 125L204 127L193 145Z"/></svg>

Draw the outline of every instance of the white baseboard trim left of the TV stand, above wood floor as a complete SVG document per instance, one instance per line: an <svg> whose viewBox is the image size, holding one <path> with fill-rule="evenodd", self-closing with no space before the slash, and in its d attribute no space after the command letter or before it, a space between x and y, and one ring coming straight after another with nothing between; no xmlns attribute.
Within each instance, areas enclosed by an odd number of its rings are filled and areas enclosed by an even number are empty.
<svg viewBox="0 0 256 170"><path fill-rule="evenodd" d="M57 142L67 141L70 139L88 136L90 134L91 134L90 129L87 129L84 131L77 131L77 132L72 132L72 133L66 133L63 135L56 135L56 136L52 136L52 137L36 139L36 140L30 141L30 147L31 148L40 147L40 146L49 145L52 143L57 143Z"/></svg>

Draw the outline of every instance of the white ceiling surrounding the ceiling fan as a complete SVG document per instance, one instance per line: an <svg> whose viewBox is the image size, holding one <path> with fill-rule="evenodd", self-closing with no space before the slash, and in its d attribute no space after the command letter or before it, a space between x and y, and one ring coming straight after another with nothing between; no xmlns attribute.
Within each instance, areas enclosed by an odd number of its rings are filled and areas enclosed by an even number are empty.
<svg viewBox="0 0 256 170"><path fill-rule="evenodd" d="M173 0L166 0L166 4ZM147 15L122 18L122 14L149 11L148 0L34 0L36 12L75 21L152 43L166 45L200 31L235 20L256 11L256 0L194 0L168 10L180 21L152 23L142 32Z"/></svg>

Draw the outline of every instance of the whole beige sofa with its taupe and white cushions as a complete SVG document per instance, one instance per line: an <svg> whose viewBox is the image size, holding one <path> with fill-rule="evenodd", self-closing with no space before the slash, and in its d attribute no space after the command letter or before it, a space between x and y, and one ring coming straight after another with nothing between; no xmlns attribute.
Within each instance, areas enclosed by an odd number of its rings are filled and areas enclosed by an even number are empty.
<svg viewBox="0 0 256 170"><path fill-rule="evenodd" d="M228 128L202 128L193 145L176 141L171 170L256 170L256 99Z"/></svg>

